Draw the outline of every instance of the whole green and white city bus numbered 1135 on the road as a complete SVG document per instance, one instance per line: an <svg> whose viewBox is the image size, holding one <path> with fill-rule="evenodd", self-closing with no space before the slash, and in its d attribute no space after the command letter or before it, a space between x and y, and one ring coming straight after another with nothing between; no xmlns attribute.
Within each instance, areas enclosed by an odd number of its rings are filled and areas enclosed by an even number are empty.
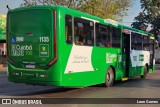
<svg viewBox="0 0 160 107"><path fill-rule="evenodd" d="M61 6L7 14L8 78L15 83L85 87L154 71L154 36Z"/></svg>

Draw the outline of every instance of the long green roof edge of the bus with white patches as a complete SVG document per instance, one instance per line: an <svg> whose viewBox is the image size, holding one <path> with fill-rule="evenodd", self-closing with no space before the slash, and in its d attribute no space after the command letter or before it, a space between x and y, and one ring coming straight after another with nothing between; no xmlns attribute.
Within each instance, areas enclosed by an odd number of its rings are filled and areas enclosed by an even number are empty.
<svg viewBox="0 0 160 107"><path fill-rule="evenodd" d="M8 13L10 12L14 12L14 11L22 11L22 10L27 10L27 9L39 9L39 8L54 8L56 10L60 10L60 11L70 11L70 13L76 14L76 16L83 16L83 18L87 18L88 20L92 20L95 22L100 22L106 25L111 25L111 26L115 26L115 27L119 27L121 29L127 29L127 30L131 30L132 32L137 32L143 35L152 35L149 32L146 31L142 31L142 30L138 30L129 26L125 26L117 21L111 20L111 19L103 19L88 13L84 13L84 12L80 12L77 10L73 10L67 7L63 7L63 6L56 6L56 5L37 5L37 6L25 6L25 7L19 7L19 8L15 8L15 9L10 9L8 11Z"/></svg>

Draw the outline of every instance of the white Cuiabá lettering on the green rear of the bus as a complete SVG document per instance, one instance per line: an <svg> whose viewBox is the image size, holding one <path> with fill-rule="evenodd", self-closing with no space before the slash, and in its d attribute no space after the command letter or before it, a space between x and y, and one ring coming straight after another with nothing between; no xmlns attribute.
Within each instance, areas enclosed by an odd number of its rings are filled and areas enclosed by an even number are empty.
<svg viewBox="0 0 160 107"><path fill-rule="evenodd" d="M12 56L24 56L25 50L32 50L32 45L11 45L12 46Z"/></svg>

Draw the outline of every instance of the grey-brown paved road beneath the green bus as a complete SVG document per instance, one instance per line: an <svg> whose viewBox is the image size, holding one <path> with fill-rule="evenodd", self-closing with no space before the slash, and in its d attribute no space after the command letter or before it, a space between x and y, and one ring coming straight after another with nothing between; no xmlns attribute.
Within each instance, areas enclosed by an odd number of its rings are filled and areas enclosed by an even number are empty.
<svg viewBox="0 0 160 107"><path fill-rule="evenodd" d="M96 85L71 89L15 84L8 82L6 72L0 70L0 98L160 98L159 89L160 65L156 65L155 72L147 79L137 77L117 81L111 88Z"/></svg>

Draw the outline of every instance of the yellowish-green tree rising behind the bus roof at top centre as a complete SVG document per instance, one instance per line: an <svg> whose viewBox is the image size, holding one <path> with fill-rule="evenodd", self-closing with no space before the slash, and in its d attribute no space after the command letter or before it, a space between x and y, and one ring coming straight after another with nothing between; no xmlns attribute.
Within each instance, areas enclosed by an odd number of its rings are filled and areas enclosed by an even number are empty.
<svg viewBox="0 0 160 107"><path fill-rule="evenodd" d="M61 5L101 18L121 21L127 15L126 11L132 0L24 0L21 6Z"/></svg>

